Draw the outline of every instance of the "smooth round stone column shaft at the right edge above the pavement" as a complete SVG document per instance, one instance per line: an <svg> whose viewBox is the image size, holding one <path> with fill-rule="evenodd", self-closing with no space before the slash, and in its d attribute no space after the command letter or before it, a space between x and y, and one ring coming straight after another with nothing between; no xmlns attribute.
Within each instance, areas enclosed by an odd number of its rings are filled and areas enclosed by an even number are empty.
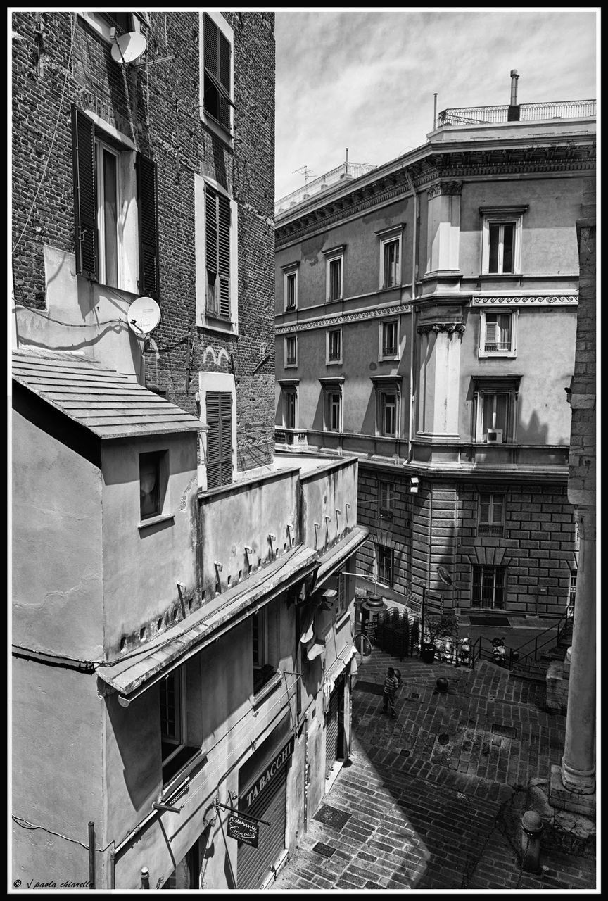
<svg viewBox="0 0 608 901"><path fill-rule="evenodd" d="M595 791L595 511L579 508L580 537L561 780L568 791Z"/></svg>

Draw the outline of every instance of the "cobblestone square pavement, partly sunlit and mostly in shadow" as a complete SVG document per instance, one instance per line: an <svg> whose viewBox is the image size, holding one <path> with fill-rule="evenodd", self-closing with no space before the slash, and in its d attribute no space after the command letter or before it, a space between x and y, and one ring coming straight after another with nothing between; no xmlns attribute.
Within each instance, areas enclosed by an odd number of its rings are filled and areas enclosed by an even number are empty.
<svg viewBox="0 0 608 901"><path fill-rule="evenodd" d="M396 720L382 713L388 665L402 673ZM593 888L588 858L542 851L542 873L520 870L528 779L549 778L564 742L565 717L543 698L493 663L471 671L374 649L353 691L351 764L271 890Z"/></svg>

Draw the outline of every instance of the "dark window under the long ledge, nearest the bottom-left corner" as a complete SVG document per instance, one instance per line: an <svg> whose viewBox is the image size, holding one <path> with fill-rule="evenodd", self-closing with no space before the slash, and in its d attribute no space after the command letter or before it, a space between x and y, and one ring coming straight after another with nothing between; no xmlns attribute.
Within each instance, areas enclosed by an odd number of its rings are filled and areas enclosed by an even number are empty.
<svg viewBox="0 0 608 901"><path fill-rule="evenodd" d="M174 669L159 682L162 780L168 783L200 748L186 741L186 668Z"/></svg>

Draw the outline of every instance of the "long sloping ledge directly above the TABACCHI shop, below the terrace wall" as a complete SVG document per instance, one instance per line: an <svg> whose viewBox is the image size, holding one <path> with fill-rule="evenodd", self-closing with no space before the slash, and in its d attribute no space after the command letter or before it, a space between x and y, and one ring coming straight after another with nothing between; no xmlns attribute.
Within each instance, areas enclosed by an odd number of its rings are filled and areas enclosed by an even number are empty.
<svg viewBox="0 0 608 901"><path fill-rule="evenodd" d="M300 545L287 551L255 575L215 597L213 606L205 605L172 626L150 642L145 651L102 663L96 670L97 676L129 703L205 645L309 576L318 565L316 554L310 548Z"/></svg>

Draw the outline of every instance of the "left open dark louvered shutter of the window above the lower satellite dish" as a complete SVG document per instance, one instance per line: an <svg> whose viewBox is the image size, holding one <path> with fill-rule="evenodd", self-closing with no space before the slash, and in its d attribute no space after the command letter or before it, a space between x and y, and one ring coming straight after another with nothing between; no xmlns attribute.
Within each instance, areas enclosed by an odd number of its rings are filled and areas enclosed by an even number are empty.
<svg viewBox="0 0 608 901"><path fill-rule="evenodd" d="M77 275L98 279L95 125L72 105L72 168Z"/></svg>

